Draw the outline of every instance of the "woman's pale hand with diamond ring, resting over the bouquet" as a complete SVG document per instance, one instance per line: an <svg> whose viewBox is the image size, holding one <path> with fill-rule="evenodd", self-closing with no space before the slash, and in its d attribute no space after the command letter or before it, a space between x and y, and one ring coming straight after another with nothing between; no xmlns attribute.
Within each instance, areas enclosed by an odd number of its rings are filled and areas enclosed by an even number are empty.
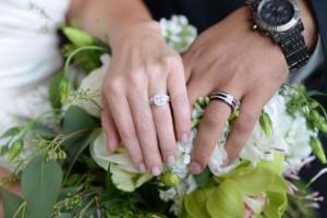
<svg viewBox="0 0 327 218"><path fill-rule="evenodd" d="M135 167L160 174L162 161L177 159L175 135L187 141L191 110L181 57L166 45L156 22L121 26L111 33L112 61L104 81L102 125L108 146L119 137ZM171 107L150 106L168 94Z"/></svg>

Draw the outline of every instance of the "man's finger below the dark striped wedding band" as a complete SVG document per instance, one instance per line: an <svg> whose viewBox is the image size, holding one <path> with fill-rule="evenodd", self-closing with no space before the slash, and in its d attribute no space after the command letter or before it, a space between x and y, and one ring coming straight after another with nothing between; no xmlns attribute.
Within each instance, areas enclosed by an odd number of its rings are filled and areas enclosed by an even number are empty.
<svg viewBox="0 0 327 218"><path fill-rule="evenodd" d="M191 173L201 173L208 164L230 113L230 107L218 100L213 100L206 108L189 166Z"/></svg>

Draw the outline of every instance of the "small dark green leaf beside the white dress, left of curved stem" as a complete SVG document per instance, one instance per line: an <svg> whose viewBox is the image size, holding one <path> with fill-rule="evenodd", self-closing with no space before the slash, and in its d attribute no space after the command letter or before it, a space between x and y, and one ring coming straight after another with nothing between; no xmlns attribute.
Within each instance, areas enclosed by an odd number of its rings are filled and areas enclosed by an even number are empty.
<svg viewBox="0 0 327 218"><path fill-rule="evenodd" d="M61 71L52 77L49 85L49 99L53 109L60 109L62 107L59 87L63 78L64 73Z"/></svg>

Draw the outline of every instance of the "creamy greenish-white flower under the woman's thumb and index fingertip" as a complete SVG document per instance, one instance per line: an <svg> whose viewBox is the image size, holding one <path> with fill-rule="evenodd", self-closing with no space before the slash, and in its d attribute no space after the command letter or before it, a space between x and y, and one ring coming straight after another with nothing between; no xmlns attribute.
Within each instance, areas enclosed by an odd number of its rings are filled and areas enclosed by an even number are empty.
<svg viewBox="0 0 327 218"><path fill-rule="evenodd" d="M125 149L110 154L104 133L90 146L90 155L101 168L110 170L113 184L124 192L134 192L153 178L152 174L134 168Z"/></svg>

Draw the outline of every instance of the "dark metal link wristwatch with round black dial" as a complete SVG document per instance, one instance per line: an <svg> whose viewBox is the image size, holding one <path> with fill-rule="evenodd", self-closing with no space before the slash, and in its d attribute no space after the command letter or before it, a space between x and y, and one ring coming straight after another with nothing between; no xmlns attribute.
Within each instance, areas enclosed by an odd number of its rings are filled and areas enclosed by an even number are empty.
<svg viewBox="0 0 327 218"><path fill-rule="evenodd" d="M290 71L305 65L310 52L296 0L246 0L246 3L252 10L254 29L269 35L280 46Z"/></svg>

